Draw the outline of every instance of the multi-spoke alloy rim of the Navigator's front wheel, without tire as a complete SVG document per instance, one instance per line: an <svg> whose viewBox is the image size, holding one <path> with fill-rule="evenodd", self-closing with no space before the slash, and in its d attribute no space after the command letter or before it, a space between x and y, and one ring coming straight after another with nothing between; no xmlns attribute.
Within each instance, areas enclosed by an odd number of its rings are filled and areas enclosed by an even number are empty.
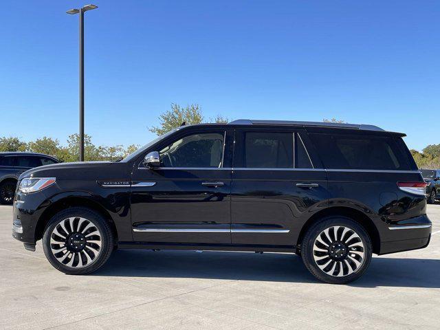
<svg viewBox="0 0 440 330"><path fill-rule="evenodd" d="M50 249L63 265L73 268L89 266L102 248L101 233L88 219L70 217L61 220L50 235Z"/></svg>

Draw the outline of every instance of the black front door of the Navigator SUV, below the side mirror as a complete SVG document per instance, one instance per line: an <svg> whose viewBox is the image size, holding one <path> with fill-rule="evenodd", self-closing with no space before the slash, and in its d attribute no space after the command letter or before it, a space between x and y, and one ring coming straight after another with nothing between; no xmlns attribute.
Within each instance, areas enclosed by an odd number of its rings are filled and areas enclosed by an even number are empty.
<svg viewBox="0 0 440 330"><path fill-rule="evenodd" d="M230 244L227 134L225 129L204 129L203 133L185 129L156 147L161 160L158 168L135 164L131 186L134 241Z"/></svg>

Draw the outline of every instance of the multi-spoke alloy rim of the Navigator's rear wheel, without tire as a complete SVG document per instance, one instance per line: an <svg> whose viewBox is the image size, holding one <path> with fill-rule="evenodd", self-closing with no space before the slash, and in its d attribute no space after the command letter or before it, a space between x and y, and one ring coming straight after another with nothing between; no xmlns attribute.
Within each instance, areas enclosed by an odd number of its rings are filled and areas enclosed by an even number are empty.
<svg viewBox="0 0 440 330"><path fill-rule="evenodd" d="M341 277L360 269L364 263L364 251L364 242L353 229L335 225L318 234L313 256L322 272Z"/></svg>

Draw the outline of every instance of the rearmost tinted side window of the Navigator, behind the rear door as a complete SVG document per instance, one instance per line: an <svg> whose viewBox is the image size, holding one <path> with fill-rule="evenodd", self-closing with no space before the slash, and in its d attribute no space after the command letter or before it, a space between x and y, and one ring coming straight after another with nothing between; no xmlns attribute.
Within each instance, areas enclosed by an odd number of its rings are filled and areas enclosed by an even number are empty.
<svg viewBox="0 0 440 330"><path fill-rule="evenodd" d="M393 137L311 134L326 168L409 170Z"/></svg>

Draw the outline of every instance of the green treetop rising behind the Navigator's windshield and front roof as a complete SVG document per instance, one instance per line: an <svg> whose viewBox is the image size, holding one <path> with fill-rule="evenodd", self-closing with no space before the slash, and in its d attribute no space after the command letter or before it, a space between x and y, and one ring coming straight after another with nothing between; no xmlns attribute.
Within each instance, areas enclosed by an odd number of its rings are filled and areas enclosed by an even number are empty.
<svg viewBox="0 0 440 330"><path fill-rule="evenodd" d="M157 135L165 134L172 129L179 127L183 122L186 124L200 124L203 122L203 115L199 104L190 104L180 107L179 104L171 103L171 109L159 116L159 126L148 128Z"/></svg>

